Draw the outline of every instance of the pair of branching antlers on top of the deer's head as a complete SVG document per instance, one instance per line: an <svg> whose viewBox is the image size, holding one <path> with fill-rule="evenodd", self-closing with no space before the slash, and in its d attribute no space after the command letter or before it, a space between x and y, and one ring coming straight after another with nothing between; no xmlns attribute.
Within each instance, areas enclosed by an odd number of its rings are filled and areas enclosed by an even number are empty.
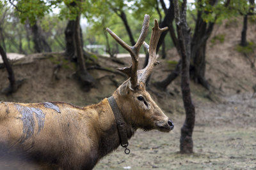
<svg viewBox="0 0 256 170"><path fill-rule="evenodd" d="M145 15L140 37L137 41L137 43L134 46L129 46L127 43L125 43L122 39L120 39L111 29L106 28L106 31L111 34L111 36L127 50L132 57L132 66L130 67L123 67L119 68L119 71L122 71L123 73L127 74L129 77L131 77L131 85L132 88L136 87L138 85L138 81L145 82L152 72L154 65L157 63L156 61L156 46L158 43L158 40L161 36L161 33L163 31L166 31L168 27L164 27L163 29L159 29L158 22L155 20L155 26L152 31L152 35L150 38L150 46L145 43L145 39L147 36L147 31L149 27L149 15ZM138 55L140 52L141 45L144 45L145 48L149 49L149 59L148 59L148 65L144 69L141 69L138 71Z"/></svg>

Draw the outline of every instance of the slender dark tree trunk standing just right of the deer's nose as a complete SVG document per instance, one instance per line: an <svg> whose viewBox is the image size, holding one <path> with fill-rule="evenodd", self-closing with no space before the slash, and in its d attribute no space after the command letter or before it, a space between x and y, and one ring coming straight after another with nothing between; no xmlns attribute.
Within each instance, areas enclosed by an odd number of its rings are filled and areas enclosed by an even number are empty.
<svg viewBox="0 0 256 170"><path fill-rule="evenodd" d="M181 128L180 153L193 153L193 129L195 125L195 106L192 103L189 87L189 62L191 55L190 29L186 22L186 0L182 3L181 13L179 13L178 0L174 2L175 22L179 38L181 53L181 90L184 108L186 111L186 120Z"/></svg>

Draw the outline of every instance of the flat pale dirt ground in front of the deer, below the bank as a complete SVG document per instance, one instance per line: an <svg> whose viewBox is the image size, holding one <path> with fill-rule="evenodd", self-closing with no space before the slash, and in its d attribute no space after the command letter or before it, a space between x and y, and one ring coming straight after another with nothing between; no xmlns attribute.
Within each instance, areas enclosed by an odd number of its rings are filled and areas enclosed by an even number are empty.
<svg viewBox="0 0 256 170"><path fill-rule="evenodd" d="M256 98L252 94L196 106L193 154L179 153L184 116L168 116L175 122L173 132L138 131L129 141L129 155L119 147L95 169L256 169Z"/></svg>

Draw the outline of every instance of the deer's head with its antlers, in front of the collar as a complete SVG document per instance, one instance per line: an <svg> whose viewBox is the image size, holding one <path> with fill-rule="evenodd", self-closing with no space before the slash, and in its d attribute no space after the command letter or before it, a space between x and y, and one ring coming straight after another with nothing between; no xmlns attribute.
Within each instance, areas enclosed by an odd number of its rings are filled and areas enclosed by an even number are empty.
<svg viewBox="0 0 256 170"><path fill-rule="evenodd" d="M158 22L155 19L155 25L152 29L150 38L150 45L145 43L148 27L149 15L145 15L140 37L134 46L127 45L122 39L116 36L114 32L108 28L106 29L109 34L111 34L111 36L131 54L132 58L132 65L130 67L118 69L127 74L129 79L124 81L124 83L118 87L115 92L115 99L119 109L122 113L125 113L125 115L123 115L125 120L128 124L132 125L132 127L139 127L146 131L158 129L162 132L169 132L174 127L172 120L164 115L163 111L157 106L145 89L146 80L154 66L158 63L156 60L158 40L162 32L166 31L168 27L160 29ZM144 69L138 70L138 54L141 45L147 48L149 58L147 66Z"/></svg>

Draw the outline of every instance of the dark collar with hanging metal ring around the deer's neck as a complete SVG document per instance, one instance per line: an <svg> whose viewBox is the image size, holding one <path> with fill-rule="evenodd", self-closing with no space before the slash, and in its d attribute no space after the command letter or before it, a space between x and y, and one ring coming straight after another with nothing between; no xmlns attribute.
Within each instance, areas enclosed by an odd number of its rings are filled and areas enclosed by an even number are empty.
<svg viewBox="0 0 256 170"><path fill-rule="evenodd" d="M129 154L130 150L127 149L127 146L129 145L129 143L128 143L128 138L127 138L126 124L124 122L124 118L122 117L122 114L121 114L121 112L116 104L116 100L113 96L108 97L108 103L111 106L111 109L115 115L116 125L117 125L117 129L118 129L121 146L125 148L124 152L126 154Z"/></svg>

